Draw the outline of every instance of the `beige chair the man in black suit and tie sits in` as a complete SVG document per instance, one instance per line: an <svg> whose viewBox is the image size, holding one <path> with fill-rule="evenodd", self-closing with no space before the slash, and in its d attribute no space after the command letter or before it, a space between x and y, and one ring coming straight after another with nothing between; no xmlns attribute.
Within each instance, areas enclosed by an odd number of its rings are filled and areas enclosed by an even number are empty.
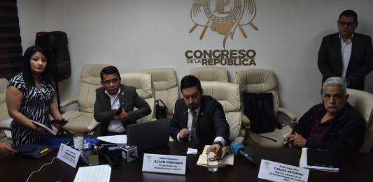
<svg viewBox="0 0 373 182"><path fill-rule="evenodd" d="M230 125L230 142L237 137L244 136L241 130L241 100L239 85L227 82L201 82L204 95L211 96L223 105L225 118ZM227 142L229 144L229 142Z"/></svg>

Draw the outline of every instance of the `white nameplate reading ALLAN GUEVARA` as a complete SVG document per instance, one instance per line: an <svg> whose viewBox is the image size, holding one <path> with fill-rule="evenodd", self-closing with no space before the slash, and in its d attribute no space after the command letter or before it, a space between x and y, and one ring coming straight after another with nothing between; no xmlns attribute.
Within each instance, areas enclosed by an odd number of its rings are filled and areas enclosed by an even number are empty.
<svg viewBox="0 0 373 182"><path fill-rule="evenodd" d="M185 166L186 156L143 154L143 172L185 175Z"/></svg>

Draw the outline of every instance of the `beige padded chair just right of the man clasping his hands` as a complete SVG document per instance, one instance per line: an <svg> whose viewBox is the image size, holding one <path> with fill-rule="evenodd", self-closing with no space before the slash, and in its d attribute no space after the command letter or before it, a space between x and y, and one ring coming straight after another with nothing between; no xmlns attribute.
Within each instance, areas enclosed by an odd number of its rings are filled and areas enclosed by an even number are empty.
<svg viewBox="0 0 373 182"><path fill-rule="evenodd" d="M150 109L152 110L152 112L147 116L138 119L137 123L152 121L155 116L155 96L153 94L154 89L152 84L152 75L148 73L122 73L120 74L120 77L121 84L134 86L136 88L137 94L139 94L139 97L143 98L143 100L148 103Z"/></svg>

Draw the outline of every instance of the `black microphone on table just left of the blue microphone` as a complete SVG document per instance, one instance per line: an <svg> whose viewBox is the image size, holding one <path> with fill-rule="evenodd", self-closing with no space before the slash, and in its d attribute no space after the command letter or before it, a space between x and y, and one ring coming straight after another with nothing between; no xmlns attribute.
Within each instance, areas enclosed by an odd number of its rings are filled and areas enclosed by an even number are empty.
<svg viewBox="0 0 373 182"><path fill-rule="evenodd" d="M99 156L104 158L111 167L119 167L122 157L120 147L116 144L101 145L99 147Z"/></svg>

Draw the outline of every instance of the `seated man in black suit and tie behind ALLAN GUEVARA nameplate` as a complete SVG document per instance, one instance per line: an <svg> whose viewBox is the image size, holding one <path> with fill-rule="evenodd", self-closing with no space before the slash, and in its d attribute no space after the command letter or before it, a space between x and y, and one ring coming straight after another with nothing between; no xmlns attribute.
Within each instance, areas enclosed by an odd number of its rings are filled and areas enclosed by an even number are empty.
<svg viewBox="0 0 373 182"><path fill-rule="evenodd" d="M175 103L175 114L170 123L170 135L177 141L197 146L212 144L210 151L220 160L222 149L229 142L230 126L223 106L211 96L203 96L201 82L187 75L181 79L183 98Z"/></svg>

